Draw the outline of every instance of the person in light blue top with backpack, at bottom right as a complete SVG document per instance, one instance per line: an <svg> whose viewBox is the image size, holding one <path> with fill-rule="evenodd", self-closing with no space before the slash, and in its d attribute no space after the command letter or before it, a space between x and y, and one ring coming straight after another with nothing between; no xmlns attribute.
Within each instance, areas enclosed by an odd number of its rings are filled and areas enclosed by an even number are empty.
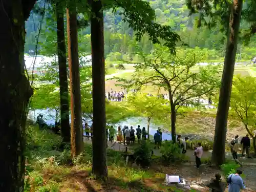
<svg viewBox="0 0 256 192"><path fill-rule="evenodd" d="M246 188L243 179L240 177L242 173L242 170L237 170L236 174L230 174L227 177L228 192L240 192L241 189Z"/></svg>

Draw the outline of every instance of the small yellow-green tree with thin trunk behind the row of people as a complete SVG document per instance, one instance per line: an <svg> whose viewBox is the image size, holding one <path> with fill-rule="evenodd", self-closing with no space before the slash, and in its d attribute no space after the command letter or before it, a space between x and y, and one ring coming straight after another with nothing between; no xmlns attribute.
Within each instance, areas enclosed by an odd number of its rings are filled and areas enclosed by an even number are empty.
<svg viewBox="0 0 256 192"><path fill-rule="evenodd" d="M169 113L166 101L162 97L157 98L143 93L130 95L128 101L137 113L147 118L147 139L149 140L152 118Z"/></svg>

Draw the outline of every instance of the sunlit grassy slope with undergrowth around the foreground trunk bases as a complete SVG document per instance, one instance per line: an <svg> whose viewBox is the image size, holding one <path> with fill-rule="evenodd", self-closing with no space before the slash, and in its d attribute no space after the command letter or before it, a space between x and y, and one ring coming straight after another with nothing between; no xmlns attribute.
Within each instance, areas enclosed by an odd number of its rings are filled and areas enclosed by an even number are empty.
<svg viewBox="0 0 256 192"><path fill-rule="evenodd" d="M70 150L58 149L59 136L50 131L27 127L27 164L25 192L57 191L177 191L164 186L165 174L154 169L125 166L121 152L107 150L109 180L91 176L92 146L84 143L84 152L68 165Z"/></svg>

